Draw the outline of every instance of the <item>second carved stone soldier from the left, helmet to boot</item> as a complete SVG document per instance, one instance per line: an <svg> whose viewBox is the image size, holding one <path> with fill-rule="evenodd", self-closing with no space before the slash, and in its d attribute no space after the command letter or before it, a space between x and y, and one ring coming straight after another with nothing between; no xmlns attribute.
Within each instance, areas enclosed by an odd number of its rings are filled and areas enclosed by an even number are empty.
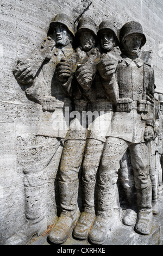
<svg viewBox="0 0 163 256"><path fill-rule="evenodd" d="M76 50L79 57L78 69L73 81L74 111L70 115L73 120L67 131L60 161L58 183L61 215L48 236L53 243L64 243L74 221L78 218L78 173L86 142L86 124L82 123L82 111L86 111L87 102L91 99L96 59L99 58L98 49L95 47L97 25L92 19L84 17L79 21L76 38L80 45ZM80 85L81 81L83 87Z"/></svg>

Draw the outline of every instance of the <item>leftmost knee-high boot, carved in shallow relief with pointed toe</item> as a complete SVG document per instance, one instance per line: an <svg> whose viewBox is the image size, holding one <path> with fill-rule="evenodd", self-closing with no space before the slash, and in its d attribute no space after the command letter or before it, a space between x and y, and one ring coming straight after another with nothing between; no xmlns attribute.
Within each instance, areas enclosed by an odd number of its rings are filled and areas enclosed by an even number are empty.
<svg viewBox="0 0 163 256"><path fill-rule="evenodd" d="M17 234L11 236L6 245L27 245L33 235L42 235L47 229L46 200L48 178L46 173L24 175L26 223Z"/></svg>

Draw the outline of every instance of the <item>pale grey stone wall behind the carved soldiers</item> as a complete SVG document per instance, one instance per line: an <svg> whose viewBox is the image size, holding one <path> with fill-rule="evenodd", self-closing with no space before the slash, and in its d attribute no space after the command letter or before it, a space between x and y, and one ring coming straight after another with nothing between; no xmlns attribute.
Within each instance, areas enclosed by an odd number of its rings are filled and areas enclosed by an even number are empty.
<svg viewBox="0 0 163 256"><path fill-rule="evenodd" d="M58 13L82 13L97 22L112 20L120 29L139 21L147 37L144 50L152 50L156 92L163 94L163 1L162 0L1 0L0 3L0 243L24 223L23 170L41 167L56 147L35 143L42 107L29 101L12 70L17 59L35 58L47 36L49 23ZM54 181L61 148L48 166L48 224L56 217Z"/></svg>

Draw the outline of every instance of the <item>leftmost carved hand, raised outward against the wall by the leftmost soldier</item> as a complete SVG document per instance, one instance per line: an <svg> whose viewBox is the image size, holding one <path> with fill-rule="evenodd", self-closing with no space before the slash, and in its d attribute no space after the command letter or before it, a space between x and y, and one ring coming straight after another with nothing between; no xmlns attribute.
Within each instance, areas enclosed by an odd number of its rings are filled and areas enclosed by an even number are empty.
<svg viewBox="0 0 163 256"><path fill-rule="evenodd" d="M13 74L16 80L22 84L32 84L34 81L34 75L29 60L25 60L24 62L18 60Z"/></svg>

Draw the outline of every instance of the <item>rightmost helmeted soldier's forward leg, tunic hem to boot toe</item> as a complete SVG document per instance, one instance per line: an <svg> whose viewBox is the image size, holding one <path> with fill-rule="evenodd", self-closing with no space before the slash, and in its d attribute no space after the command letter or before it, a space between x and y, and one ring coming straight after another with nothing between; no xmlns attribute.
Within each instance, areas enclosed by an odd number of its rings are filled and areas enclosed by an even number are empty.
<svg viewBox="0 0 163 256"><path fill-rule="evenodd" d="M98 209L97 217L89 239L92 243L102 244L107 237L107 231L112 227L114 220L114 198L120 160L127 150L129 143L120 138L106 138L98 175Z"/></svg>

